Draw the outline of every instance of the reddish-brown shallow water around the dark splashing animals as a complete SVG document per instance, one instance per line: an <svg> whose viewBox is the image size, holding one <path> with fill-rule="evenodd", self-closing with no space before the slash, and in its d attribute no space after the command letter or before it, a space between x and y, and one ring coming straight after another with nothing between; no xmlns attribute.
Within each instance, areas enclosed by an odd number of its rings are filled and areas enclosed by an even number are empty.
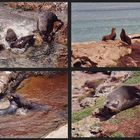
<svg viewBox="0 0 140 140"><path fill-rule="evenodd" d="M36 103L49 105L47 112L29 111L25 115L0 117L0 137L38 138L67 122L67 75L37 76L25 79L17 93Z"/></svg>

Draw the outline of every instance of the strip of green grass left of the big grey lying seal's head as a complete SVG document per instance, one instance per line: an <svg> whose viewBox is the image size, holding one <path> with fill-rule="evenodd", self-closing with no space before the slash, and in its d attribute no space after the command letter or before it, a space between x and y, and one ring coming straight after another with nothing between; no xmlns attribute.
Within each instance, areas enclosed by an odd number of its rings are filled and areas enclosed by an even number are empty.
<svg viewBox="0 0 140 140"><path fill-rule="evenodd" d="M82 120L85 117L90 116L95 109L103 107L104 102L105 102L105 97L100 97L96 100L96 103L94 106L86 107L78 112L73 113L72 122L74 123L74 122Z"/></svg>

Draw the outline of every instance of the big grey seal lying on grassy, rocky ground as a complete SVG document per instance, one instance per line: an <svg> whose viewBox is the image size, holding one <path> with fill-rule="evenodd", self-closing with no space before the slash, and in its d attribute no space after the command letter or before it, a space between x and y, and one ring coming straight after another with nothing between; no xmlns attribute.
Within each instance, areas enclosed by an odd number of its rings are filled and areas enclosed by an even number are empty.
<svg viewBox="0 0 140 140"><path fill-rule="evenodd" d="M107 96L105 107L111 112L120 112L140 104L140 90L133 86L122 86Z"/></svg>

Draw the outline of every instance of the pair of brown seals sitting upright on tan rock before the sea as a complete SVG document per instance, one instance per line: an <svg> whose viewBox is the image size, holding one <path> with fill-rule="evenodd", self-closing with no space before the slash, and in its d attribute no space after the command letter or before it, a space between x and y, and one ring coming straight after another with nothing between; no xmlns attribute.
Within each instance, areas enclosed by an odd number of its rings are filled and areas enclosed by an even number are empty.
<svg viewBox="0 0 140 140"><path fill-rule="evenodd" d="M115 38L116 38L116 29L113 27L111 30L111 34L103 36L102 41L115 40ZM131 39L126 34L126 32L123 28L122 28L122 31L120 33L120 38L123 42L127 43L128 45L131 45Z"/></svg>

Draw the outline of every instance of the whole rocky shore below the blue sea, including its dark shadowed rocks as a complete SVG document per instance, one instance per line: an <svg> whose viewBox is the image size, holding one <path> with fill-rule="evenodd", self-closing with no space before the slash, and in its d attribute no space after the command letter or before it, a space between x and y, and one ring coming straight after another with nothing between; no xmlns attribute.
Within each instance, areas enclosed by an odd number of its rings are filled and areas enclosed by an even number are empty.
<svg viewBox="0 0 140 140"><path fill-rule="evenodd" d="M121 40L72 43L73 67L138 67L139 34L130 35L132 45ZM90 50L90 51L89 51Z"/></svg>

